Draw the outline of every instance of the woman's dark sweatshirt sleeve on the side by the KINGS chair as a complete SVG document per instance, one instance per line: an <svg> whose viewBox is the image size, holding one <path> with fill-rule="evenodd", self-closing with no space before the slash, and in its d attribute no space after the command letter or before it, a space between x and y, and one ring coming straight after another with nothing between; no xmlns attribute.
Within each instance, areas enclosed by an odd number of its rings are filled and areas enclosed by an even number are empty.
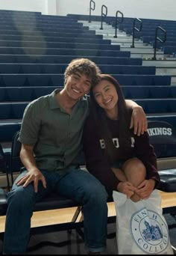
<svg viewBox="0 0 176 256"><path fill-rule="evenodd" d="M157 156L154 153L154 147L149 142L148 132L143 135L135 136L136 157L138 157L145 165L147 175L146 178L156 181L155 188L160 182L160 175L157 170Z"/></svg>

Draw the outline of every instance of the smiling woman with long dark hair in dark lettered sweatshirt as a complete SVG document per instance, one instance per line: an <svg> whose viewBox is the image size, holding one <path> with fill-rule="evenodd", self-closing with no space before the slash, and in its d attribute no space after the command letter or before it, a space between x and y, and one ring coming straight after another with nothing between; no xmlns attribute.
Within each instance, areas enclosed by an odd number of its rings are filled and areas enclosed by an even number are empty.
<svg viewBox="0 0 176 256"><path fill-rule="evenodd" d="M88 171L112 194L132 201L147 199L160 176L148 132L138 136L129 128L131 109L113 76L101 74L90 91L91 112L84 125L84 153Z"/></svg>

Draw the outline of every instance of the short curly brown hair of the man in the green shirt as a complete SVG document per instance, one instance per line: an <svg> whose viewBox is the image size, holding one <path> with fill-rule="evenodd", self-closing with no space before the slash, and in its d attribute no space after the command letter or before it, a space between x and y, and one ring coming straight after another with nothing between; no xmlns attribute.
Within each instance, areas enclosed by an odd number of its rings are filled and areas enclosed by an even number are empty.
<svg viewBox="0 0 176 256"><path fill-rule="evenodd" d="M101 70L88 58L75 58L69 63L68 67L66 67L64 73L64 85L66 85L68 77L76 72L81 74L84 73L89 76L92 80L92 85L95 85L98 82L98 75L101 73Z"/></svg>

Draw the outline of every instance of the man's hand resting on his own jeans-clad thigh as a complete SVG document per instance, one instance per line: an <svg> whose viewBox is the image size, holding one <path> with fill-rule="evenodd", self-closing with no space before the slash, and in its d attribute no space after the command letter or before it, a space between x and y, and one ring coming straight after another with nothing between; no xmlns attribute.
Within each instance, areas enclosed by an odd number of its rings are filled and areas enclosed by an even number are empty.
<svg viewBox="0 0 176 256"><path fill-rule="evenodd" d="M46 188L45 177L39 169L35 168L33 171L28 171L25 176L17 180L16 186L20 186L23 184L23 187L25 188L26 186L28 186L29 183L34 181L34 191L37 193L39 180L42 181L44 188Z"/></svg>

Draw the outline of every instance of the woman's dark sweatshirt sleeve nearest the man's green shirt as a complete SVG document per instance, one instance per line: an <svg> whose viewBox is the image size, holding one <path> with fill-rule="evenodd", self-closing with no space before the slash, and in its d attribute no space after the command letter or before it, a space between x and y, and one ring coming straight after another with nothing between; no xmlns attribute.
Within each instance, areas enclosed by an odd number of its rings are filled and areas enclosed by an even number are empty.
<svg viewBox="0 0 176 256"><path fill-rule="evenodd" d="M107 192L116 190L119 180L117 180L115 174L113 174L107 157L104 157L94 121L90 116L84 124L83 147L89 173L101 181L107 189Z"/></svg>

